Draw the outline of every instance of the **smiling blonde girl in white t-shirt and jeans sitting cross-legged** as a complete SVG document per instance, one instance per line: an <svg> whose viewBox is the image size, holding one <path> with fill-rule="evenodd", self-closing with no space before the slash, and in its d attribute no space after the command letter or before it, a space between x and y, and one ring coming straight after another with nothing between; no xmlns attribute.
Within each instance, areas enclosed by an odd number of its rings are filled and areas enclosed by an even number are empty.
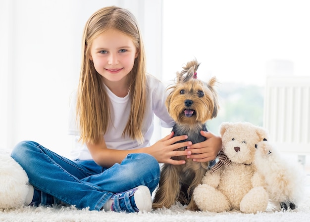
<svg viewBox="0 0 310 222"><path fill-rule="evenodd" d="M112 211L150 211L159 180L159 163L184 164L172 156L209 161L221 150L221 138L192 145L173 133L150 146L153 116L172 127L164 105L164 86L146 73L144 44L135 17L126 9L105 7L87 21L76 117L70 133L80 149L71 161L33 141L23 141L12 157L29 182L26 203L75 205ZM77 121L76 121L77 120ZM75 124L77 123L77 124ZM186 151L174 151L187 146Z"/></svg>

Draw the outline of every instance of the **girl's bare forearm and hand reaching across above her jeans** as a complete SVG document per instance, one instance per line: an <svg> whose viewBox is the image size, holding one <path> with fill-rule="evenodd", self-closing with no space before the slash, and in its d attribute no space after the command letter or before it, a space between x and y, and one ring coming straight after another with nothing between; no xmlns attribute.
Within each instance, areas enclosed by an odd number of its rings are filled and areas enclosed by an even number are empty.
<svg viewBox="0 0 310 222"><path fill-rule="evenodd" d="M102 167L111 167L115 163L121 163L129 153L148 153L155 157L158 163L173 165L185 164L183 160L172 160L172 156L191 155L191 151L175 151L175 149L192 145L191 141L175 143L187 139L187 135L174 136L173 133L157 141L154 145L134 150L115 150L106 147L105 141L98 144L86 143L94 161Z"/></svg>

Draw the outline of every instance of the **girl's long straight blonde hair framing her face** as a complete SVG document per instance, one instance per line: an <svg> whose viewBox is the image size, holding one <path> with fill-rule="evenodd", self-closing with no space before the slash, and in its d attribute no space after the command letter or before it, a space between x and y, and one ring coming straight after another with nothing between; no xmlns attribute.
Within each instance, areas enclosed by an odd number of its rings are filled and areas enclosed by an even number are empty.
<svg viewBox="0 0 310 222"><path fill-rule="evenodd" d="M87 21L82 39L82 65L77 99L77 118L82 142L98 143L103 139L110 120L110 101L103 79L90 60L92 41L108 29L126 34L137 47L138 57L128 74L131 110L122 136L143 142L142 122L146 108L146 58L141 32L134 15L117 6L104 7Z"/></svg>

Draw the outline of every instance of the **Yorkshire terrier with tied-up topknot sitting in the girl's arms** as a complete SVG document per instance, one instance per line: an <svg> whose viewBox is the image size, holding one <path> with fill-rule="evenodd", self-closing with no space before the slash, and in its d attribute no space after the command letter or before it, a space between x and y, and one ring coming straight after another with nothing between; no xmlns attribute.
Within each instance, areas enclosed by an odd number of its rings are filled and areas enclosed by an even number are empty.
<svg viewBox="0 0 310 222"><path fill-rule="evenodd" d="M219 109L217 93L214 90L216 78L207 83L197 79L197 60L188 62L181 72L177 72L176 83L171 90L166 106L170 116L176 122L172 131L174 136L188 135L188 139L198 143L206 140L201 131L207 131L206 122L217 115ZM180 141L180 142L183 142ZM178 150L185 150L182 147ZM155 193L153 208L170 208L176 201L187 205L188 210L197 211L193 200L193 191L201 183L210 162L194 162L185 156L172 157L174 160L185 160L183 165L163 164L159 185Z"/></svg>

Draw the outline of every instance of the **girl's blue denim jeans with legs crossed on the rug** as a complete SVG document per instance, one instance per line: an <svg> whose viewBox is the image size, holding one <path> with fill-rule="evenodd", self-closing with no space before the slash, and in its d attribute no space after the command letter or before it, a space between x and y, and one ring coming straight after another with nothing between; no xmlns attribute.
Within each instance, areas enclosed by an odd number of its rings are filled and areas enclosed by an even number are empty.
<svg viewBox="0 0 310 222"><path fill-rule="evenodd" d="M149 187L152 193L159 181L159 164L145 153L129 154L121 164L107 169L93 160L71 161L33 141L18 143L11 156L35 187L36 205L61 201L99 211L114 193L139 185Z"/></svg>

